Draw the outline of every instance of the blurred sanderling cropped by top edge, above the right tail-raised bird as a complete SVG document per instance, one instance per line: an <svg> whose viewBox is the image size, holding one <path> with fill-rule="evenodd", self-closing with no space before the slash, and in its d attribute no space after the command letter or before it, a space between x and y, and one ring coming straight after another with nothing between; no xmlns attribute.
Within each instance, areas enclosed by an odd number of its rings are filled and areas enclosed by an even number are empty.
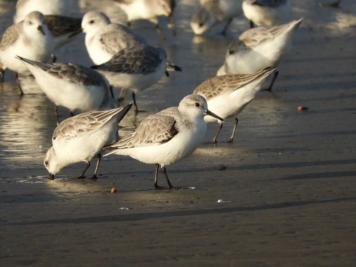
<svg viewBox="0 0 356 267"><path fill-rule="evenodd" d="M244 0L242 10L250 27L276 26L290 9L290 0Z"/></svg>

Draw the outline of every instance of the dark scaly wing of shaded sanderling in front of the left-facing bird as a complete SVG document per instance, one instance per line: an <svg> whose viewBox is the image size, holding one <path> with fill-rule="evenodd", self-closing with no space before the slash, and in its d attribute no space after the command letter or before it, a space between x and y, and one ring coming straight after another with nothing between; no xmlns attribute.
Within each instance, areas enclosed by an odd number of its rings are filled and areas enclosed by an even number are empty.
<svg viewBox="0 0 356 267"><path fill-rule="evenodd" d="M166 53L162 48L149 45L136 45L127 47L108 62L92 66L93 69L126 73L126 74L150 74L156 70L165 59Z"/></svg>

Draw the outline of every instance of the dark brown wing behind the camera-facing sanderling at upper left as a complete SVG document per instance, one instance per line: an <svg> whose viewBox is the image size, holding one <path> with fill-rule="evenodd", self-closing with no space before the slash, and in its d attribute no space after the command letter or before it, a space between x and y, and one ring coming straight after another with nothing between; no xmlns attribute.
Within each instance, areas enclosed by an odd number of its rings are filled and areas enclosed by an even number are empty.
<svg viewBox="0 0 356 267"><path fill-rule="evenodd" d="M54 37L66 35L78 31L82 27L82 19L59 16L45 15L45 24Z"/></svg>

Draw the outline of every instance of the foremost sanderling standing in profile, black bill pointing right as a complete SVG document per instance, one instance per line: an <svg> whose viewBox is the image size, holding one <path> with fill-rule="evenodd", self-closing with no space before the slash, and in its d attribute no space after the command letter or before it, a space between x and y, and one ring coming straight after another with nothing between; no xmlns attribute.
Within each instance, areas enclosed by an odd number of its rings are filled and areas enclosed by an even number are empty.
<svg viewBox="0 0 356 267"><path fill-rule="evenodd" d="M104 149L112 151L104 156L115 153L156 164L154 186L159 189L163 188L157 185L158 167L161 165L169 189L173 189L165 166L188 157L199 146L206 131L206 115L223 120L208 110L203 96L185 96L178 107L148 116L132 133L117 143L105 146Z"/></svg>

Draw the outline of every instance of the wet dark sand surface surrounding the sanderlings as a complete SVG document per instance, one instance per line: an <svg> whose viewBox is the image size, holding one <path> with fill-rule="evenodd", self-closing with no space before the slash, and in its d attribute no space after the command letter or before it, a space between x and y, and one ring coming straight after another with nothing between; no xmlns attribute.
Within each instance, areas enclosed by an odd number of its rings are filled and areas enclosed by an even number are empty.
<svg viewBox="0 0 356 267"><path fill-rule="evenodd" d="M122 19L109 2L100 8ZM184 72L137 95L146 112L130 112L120 134L213 77L228 43L248 28L241 16L227 38L214 30L194 37L191 2L178 1L177 37L162 25L165 42L152 25L134 24ZM293 19L305 19L292 52L272 93L262 92L240 114L234 144L222 142L231 133L228 120L215 147L201 145L167 167L174 186L195 189L154 190L154 166L123 156L104 158L96 181L68 179L84 164L47 180L42 161L53 106L44 95L20 99L8 72L0 84L0 265L355 266L356 4L343 1L338 10L310 2L294 1ZM77 53L90 66L80 45L63 48L59 58ZM208 125L206 140L215 131ZM166 183L161 173L158 182Z"/></svg>

